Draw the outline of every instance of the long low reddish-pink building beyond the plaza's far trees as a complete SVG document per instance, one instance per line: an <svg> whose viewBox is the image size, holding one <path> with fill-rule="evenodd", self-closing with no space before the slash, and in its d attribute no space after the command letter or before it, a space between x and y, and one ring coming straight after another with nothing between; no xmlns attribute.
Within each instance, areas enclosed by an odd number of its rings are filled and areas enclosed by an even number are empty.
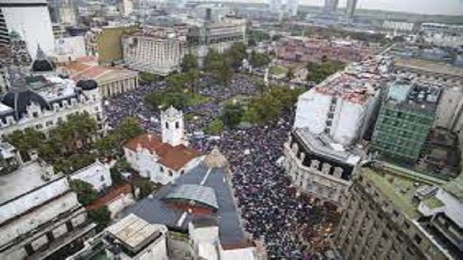
<svg viewBox="0 0 463 260"><path fill-rule="evenodd" d="M324 40L312 37L283 37L276 42L276 56L279 59L296 62L341 61L349 63L362 61L375 53L375 47L368 42L356 40Z"/></svg>

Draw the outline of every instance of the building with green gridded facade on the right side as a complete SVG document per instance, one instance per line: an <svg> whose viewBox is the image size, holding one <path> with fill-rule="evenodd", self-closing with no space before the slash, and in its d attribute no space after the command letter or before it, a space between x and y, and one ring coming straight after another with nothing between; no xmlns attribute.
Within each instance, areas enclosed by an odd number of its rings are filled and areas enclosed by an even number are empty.
<svg viewBox="0 0 463 260"><path fill-rule="evenodd" d="M416 162L433 126L440 86L400 79L389 86L373 131L373 154Z"/></svg>

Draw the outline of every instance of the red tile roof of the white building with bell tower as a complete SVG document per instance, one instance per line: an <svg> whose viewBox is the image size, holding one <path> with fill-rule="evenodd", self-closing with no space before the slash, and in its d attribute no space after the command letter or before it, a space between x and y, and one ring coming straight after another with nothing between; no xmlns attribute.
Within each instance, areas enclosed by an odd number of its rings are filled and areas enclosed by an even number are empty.
<svg viewBox="0 0 463 260"><path fill-rule="evenodd" d="M159 156L158 162L172 170L180 170L187 162L202 155L199 150L184 145L171 146L169 143L163 143L160 136L153 134L136 136L125 145L134 151L139 146L156 153Z"/></svg>

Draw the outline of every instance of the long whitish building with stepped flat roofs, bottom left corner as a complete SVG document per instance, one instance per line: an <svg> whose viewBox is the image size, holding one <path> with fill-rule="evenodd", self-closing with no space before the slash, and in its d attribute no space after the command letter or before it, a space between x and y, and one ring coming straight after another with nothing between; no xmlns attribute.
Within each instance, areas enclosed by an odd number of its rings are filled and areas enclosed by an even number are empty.
<svg viewBox="0 0 463 260"><path fill-rule="evenodd" d="M0 259L66 257L95 235L66 177L40 159L21 162L0 184Z"/></svg>

